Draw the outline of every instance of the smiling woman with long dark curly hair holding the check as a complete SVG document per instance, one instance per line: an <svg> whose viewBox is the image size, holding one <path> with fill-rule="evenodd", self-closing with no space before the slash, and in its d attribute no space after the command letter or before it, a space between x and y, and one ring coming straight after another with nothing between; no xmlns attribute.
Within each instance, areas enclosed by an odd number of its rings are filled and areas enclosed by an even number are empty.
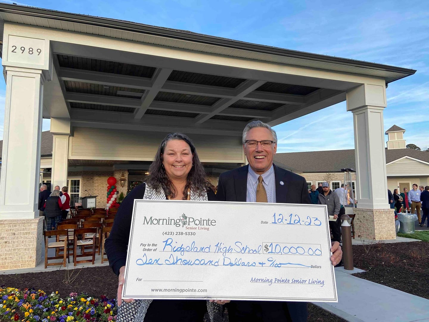
<svg viewBox="0 0 429 322"><path fill-rule="evenodd" d="M195 146L186 135L172 133L161 142L149 167L148 179L134 188L118 208L106 240L106 252L109 264L119 278L118 322L202 321L207 305L213 303L201 300L121 301L134 199L215 200Z"/></svg>

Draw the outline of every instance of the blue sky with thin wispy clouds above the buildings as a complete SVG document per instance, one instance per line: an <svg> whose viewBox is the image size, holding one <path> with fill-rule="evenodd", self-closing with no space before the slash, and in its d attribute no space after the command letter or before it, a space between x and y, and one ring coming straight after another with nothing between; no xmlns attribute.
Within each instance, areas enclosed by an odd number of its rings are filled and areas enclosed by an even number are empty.
<svg viewBox="0 0 429 322"><path fill-rule="evenodd" d="M11 3L12 1L2 1ZM389 1L25 1L66 12L191 30L263 45L417 70L389 84L385 130L429 147L429 3ZM0 81L0 139L4 94ZM44 120L43 130L49 129ZM345 102L275 127L278 152L353 149L353 118ZM387 136L386 136L387 140Z"/></svg>

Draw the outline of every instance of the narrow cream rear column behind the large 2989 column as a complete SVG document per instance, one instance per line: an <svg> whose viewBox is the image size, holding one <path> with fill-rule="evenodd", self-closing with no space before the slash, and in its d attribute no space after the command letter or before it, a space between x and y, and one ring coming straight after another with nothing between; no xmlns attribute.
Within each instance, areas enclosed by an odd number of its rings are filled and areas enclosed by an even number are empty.
<svg viewBox="0 0 429 322"><path fill-rule="evenodd" d="M67 185L70 119L51 118L52 144L52 174L51 185L60 188Z"/></svg>

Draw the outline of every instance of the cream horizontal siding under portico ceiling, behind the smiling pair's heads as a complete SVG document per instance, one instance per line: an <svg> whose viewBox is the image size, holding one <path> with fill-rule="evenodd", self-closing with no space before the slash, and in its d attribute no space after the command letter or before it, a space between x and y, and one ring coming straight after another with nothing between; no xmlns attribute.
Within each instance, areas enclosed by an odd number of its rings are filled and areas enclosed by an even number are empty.
<svg viewBox="0 0 429 322"><path fill-rule="evenodd" d="M73 128L69 159L152 161L165 133ZM190 134L202 162L244 163L240 137Z"/></svg>

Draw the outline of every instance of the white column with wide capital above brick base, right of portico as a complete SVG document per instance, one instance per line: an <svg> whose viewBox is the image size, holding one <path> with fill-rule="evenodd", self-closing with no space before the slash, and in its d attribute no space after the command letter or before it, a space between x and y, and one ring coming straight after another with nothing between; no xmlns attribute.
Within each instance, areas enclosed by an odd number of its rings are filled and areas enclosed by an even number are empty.
<svg viewBox="0 0 429 322"><path fill-rule="evenodd" d="M387 201L383 110L386 89L363 84L347 92L353 112L358 208L390 209Z"/></svg>

